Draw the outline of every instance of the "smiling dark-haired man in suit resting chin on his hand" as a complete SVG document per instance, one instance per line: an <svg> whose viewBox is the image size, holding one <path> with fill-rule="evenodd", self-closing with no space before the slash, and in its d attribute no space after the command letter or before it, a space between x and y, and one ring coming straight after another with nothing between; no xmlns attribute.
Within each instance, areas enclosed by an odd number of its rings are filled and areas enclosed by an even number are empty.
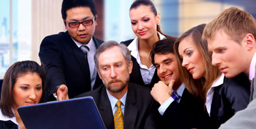
<svg viewBox="0 0 256 129"><path fill-rule="evenodd" d="M157 41L150 57L160 81L151 90L152 97L161 104L163 128L203 128L206 117L203 100L191 95L182 84L173 45L177 38Z"/></svg>

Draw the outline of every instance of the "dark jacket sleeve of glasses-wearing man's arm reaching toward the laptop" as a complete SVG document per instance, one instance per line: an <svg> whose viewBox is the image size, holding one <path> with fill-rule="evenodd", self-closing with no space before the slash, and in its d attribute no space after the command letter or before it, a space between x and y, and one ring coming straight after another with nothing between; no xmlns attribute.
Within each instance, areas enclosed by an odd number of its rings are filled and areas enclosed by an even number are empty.
<svg viewBox="0 0 256 129"><path fill-rule="evenodd" d="M58 46L58 36L48 36L42 40L40 45L40 61L46 65L46 93L48 97L52 96L56 86L66 84L63 73L63 52Z"/></svg>

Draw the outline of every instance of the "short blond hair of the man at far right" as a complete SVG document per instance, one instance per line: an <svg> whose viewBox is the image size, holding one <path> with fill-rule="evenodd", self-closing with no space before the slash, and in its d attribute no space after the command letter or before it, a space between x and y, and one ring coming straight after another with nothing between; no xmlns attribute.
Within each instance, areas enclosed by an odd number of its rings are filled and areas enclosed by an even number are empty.
<svg viewBox="0 0 256 129"><path fill-rule="evenodd" d="M229 34L234 41L240 43L248 33L256 36L256 21L251 14L244 10L236 7L228 8L206 25L203 31L203 40L212 38L220 29Z"/></svg>

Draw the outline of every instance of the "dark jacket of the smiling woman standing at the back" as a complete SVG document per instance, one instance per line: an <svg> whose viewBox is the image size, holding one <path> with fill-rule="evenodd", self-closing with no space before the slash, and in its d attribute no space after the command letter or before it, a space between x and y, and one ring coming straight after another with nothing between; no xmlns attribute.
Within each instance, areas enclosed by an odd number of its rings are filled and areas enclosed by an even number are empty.
<svg viewBox="0 0 256 129"><path fill-rule="evenodd" d="M124 43L124 45L128 46L128 45L130 45L131 42L132 42L132 40L127 40L127 41L122 41L121 43ZM141 86L146 86L151 89L154 86L154 84L160 80L157 75L157 71L156 71L157 69L156 69L154 71L154 76L153 76L150 84L146 85L143 82L139 64L137 63L137 60L136 60L136 58L134 58L134 56L132 56L132 62L133 62L133 67L132 67L132 73L130 74L130 82L134 82L135 84L139 84Z"/></svg>

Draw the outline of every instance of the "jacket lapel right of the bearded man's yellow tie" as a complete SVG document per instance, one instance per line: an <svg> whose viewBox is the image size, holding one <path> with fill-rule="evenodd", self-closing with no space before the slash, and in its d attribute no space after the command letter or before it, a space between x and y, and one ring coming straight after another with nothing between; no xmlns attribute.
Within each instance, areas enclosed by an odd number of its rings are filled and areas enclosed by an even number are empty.
<svg viewBox="0 0 256 129"><path fill-rule="evenodd" d="M135 106L136 100L134 98L132 87L128 86L128 93L125 102L124 111L124 128L134 128L137 118L138 108Z"/></svg>

